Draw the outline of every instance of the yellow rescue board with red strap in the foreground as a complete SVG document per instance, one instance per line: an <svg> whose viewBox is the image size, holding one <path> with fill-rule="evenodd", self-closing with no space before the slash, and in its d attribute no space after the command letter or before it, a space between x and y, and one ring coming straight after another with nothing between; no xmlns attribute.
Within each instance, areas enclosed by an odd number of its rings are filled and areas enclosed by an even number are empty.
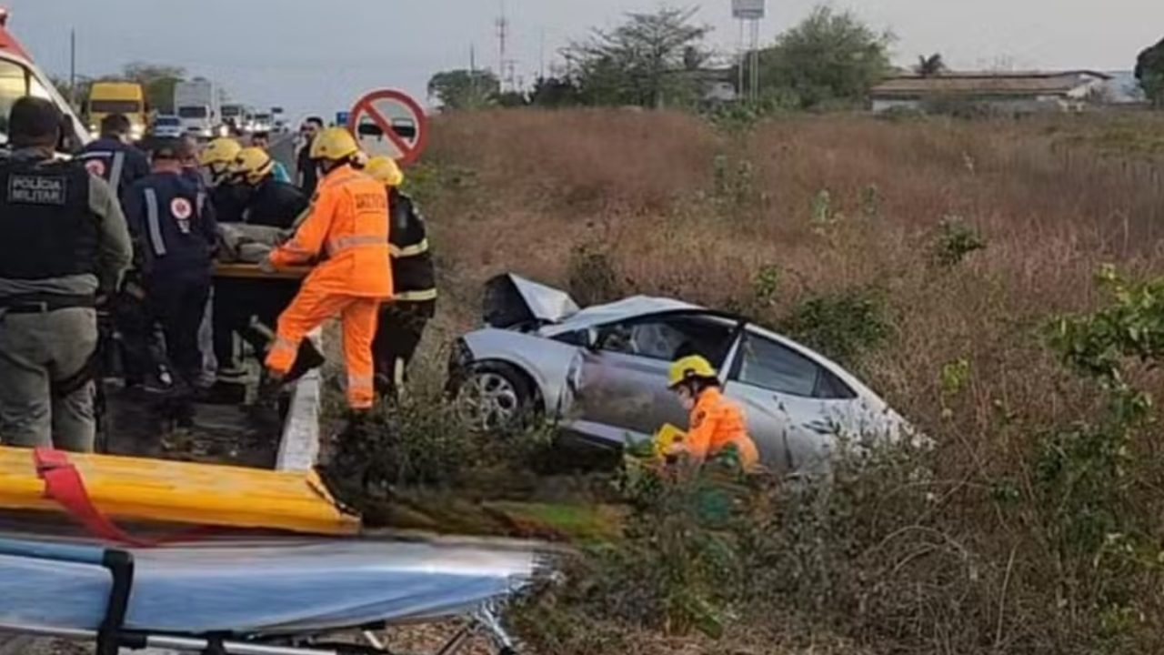
<svg viewBox="0 0 1164 655"><path fill-rule="evenodd" d="M52 488L57 473L64 484ZM0 448L0 510L76 516L65 495L111 519L317 535L360 529L314 472Z"/></svg>

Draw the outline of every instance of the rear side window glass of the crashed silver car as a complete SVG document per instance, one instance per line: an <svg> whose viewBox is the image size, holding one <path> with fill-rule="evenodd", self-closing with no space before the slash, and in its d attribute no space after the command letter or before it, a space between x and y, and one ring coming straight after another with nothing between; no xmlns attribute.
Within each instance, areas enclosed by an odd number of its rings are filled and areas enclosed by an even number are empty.
<svg viewBox="0 0 1164 655"><path fill-rule="evenodd" d="M854 397L839 378L797 353L758 334L744 338L733 379L779 394L817 399Z"/></svg>

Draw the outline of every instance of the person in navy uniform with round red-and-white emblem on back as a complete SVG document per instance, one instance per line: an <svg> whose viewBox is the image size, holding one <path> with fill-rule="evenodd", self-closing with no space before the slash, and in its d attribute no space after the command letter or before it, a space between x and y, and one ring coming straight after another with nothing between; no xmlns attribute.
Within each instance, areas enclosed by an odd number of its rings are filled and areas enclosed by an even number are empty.
<svg viewBox="0 0 1164 655"><path fill-rule="evenodd" d="M203 371L198 330L210 297L218 226L206 193L183 175L180 143L151 145L154 172L125 197L126 219L142 272L146 307L165 334L177 373L176 418L193 418L193 389Z"/></svg>

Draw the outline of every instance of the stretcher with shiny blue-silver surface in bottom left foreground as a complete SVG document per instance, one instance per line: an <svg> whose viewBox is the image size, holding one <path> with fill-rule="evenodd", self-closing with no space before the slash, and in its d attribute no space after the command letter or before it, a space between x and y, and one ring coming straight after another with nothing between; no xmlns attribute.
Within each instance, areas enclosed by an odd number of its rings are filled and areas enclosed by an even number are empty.
<svg viewBox="0 0 1164 655"><path fill-rule="evenodd" d="M372 540L122 550L0 534L0 633L239 655L390 653L370 631L461 619L499 654L509 600L548 571L532 545ZM367 636L368 643L352 638ZM329 641L335 640L335 641Z"/></svg>

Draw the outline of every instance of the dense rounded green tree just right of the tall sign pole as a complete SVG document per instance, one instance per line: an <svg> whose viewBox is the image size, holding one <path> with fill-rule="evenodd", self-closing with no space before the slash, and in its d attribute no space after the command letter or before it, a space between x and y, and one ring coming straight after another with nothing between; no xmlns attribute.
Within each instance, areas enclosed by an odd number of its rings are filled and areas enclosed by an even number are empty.
<svg viewBox="0 0 1164 655"><path fill-rule="evenodd" d="M863 103L890 71L892 42L851 12L818 6L760 51L760 89L805 110Z"/></svg>

